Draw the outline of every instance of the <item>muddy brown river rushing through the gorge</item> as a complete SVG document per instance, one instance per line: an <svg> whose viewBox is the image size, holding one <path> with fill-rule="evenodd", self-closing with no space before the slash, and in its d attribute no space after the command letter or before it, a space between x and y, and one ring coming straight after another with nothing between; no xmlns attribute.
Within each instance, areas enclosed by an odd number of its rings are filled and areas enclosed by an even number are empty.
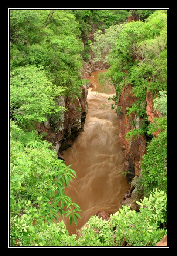
<svg viewBox="0 0 177 256"><path fill-rule="evenodd" d="M99 210L116 212L119 210L123 194L129 189L123 170L123 153L119 143L119 125L113 102L108 97L115 93L114 88L106 93L98 93L98 73L92 72L89 81L93 88L88 89L88 113L84 131L75 138L72 147L63 151L67 165L77 173L77 178L69 184L65 193L77 203L83 212L78 226L74 221L65 224L69 233L75 233ZM109 94L109 95L108 95Z"/></svg>

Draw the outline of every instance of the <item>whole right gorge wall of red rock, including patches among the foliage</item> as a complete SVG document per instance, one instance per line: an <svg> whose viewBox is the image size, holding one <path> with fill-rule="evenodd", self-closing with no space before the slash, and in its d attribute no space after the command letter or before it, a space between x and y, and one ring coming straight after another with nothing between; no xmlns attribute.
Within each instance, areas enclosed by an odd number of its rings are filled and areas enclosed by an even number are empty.
<svg viewBox="0 0 177 256"><path fill-rule="evenodd" d="M153 122L153 118L159 117L159 113L153 108L153 98L154 95L150 92L146 92L146 114L148 116L148 121ZM146 153L147 141L142 135L132 141L127 141L125 139L127 132L133 128L140 128L143 121L142 118L131 114L131 118L126 116L126 108L130 107L132 103L135 102L135 96L132 93L132 85L128 84L119 97L118 107L116 112L119 120L119 140L122 145L122 150L124 152L124 171L126 172L127 181L131 182L130 190L124 195L123 205L131 204L132 210L137 210L138 205L136 201L140 200L140 197L136 190L136 178L140 176L140 161L143 155ZM132 125L132 121L135 123L135 127ZM156 136L158 132L154 132L153 136Z"/></svg>

